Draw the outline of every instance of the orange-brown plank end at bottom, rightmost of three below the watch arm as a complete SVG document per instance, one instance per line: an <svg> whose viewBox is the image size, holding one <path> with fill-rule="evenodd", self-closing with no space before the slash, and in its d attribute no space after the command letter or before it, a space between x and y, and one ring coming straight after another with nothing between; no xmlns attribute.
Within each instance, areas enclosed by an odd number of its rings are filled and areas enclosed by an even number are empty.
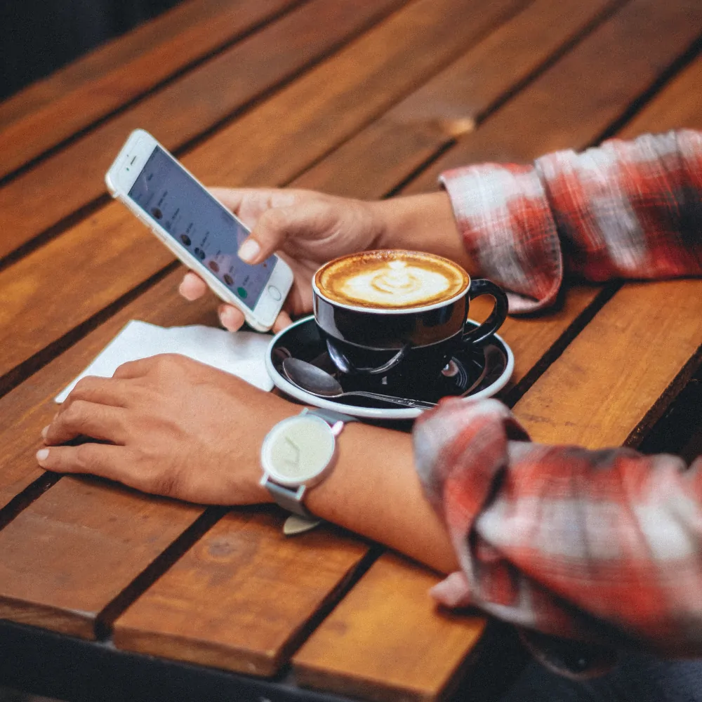
<svg viewBox="0 0 702 702"><path fill-rule="evenodd" d="M439 578L380 557L293 656L305 687L383 702L441 698L485 628L482 617L437 609Z"/></svg>

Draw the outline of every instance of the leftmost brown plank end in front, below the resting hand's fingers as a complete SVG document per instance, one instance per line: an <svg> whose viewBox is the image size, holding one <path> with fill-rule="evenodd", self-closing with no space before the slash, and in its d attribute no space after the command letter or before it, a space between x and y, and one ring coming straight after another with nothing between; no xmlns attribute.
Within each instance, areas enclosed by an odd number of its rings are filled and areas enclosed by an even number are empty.
<svg viewBox="0 0 702 702"><path fill-rule="evenodd" d="M0 531L0 618L83 638L201 508L63 477Z"/></svg>

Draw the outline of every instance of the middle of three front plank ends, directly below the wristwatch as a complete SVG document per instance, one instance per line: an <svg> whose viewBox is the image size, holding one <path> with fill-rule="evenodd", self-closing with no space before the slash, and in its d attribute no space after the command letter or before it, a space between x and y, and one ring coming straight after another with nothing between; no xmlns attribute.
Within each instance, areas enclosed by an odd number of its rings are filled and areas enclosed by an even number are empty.
<svg viewBox="0 0 702 702"><path fill-rule="evenodd" d="M333 527L282 534L277 508L230 512L114 623L119 649L277 673L368 547Z"/></svg>

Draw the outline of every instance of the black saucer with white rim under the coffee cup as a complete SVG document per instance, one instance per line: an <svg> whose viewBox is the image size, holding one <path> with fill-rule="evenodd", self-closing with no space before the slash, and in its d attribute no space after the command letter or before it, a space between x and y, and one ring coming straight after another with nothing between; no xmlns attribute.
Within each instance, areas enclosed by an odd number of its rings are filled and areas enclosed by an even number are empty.
<svg viewBox="0 0 702 702"><path fill-rule="evenodd" d="M476 322L470 322L475 324ZM353 380L336 371L326 352L326 344L319 336L314 317L305 317L273 337L265 356L266 370L277 388L300 402L323 409L332 409L366 419L414 419L423 410L397 407L382 400L356 396L339 399L317 397L294 385L286 377L282 364L294 357L319 366L331 373L344 390L355 390ZM437 402L446 396L479 399L491 397L505 387L515 368L515 358L505 341L495 335L491 343L478 352L469 350L456 353L435 382L420 389L406 388L402 397ZM385 390L378 390L385 392Z"/></svg>

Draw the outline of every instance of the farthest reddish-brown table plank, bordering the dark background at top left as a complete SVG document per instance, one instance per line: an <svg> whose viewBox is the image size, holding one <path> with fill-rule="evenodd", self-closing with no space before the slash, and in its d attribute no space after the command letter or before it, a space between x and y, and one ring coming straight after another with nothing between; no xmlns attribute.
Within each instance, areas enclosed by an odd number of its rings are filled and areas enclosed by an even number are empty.
<svg viewBox="0 0 702 702"><path fill-rule="evenodd" d="M190 0L0 104L0 178L296 0Z"/></svg>

